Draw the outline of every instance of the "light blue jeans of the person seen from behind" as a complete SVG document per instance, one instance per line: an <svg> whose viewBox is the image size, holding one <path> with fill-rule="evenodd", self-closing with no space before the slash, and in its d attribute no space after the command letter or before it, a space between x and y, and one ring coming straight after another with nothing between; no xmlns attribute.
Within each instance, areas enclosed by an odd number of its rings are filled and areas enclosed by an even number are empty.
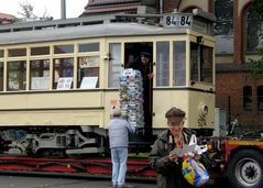
<svg viewBox="0 0 263 188"><path fill-rule="evenodd" d="M121 187L125 183L127 158L128 158L127 147L111 148L113 186Z"/></svg>

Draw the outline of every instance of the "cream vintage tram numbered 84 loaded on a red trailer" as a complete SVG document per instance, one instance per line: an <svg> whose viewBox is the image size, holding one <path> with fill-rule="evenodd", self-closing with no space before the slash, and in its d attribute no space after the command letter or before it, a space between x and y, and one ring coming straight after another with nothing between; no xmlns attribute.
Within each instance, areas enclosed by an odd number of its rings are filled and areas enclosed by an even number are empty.
<svg viewBox="0 0 263 188"><path fill-rule="evenodd" d="M1 151L103 153L107 123L119 104L120 71L142 51L153 57L152 134L167 128L171 107L186 111L185 126L211 134L211 20L188 13L161 19L161 24L112 16L1 25Z"/></svg>

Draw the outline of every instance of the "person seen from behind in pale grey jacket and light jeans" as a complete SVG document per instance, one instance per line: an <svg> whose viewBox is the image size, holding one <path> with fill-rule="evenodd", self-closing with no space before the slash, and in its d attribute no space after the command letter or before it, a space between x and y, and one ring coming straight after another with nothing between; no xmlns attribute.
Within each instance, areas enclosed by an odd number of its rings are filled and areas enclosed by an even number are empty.
<svg viewBox="0 0 263 188"><path fill-rule="evenodd" d="M112 187L123 188L125 184L129 132L134 128L122 118L119 107L113 109L112 120L108 124L112 163Z"/></svg>

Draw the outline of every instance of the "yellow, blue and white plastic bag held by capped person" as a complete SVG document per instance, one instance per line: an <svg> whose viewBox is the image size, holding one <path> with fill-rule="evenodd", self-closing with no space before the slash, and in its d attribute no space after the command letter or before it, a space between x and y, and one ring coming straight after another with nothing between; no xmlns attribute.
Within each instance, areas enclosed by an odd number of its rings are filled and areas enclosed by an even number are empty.
<svg viewBox="0 0 263 188"><path fill-rule="evenodd" d="M205 166L191 157L183 162L182 168L185 179L195 187L200 187L209 180L209 174Z"/></svg>

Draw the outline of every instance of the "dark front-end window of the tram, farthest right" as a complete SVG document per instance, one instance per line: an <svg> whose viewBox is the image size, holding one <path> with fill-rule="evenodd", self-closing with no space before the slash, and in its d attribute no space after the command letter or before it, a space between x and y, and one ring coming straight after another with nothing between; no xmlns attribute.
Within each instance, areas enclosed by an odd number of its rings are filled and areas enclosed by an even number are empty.
<svg viewBox="0 0 263 188"><path fill-rule="evenodd" d="M190 79L195 81L212 82L212 77L213 77L212 48L208 46L198 45L196 43L191 43Z"/></svg>

